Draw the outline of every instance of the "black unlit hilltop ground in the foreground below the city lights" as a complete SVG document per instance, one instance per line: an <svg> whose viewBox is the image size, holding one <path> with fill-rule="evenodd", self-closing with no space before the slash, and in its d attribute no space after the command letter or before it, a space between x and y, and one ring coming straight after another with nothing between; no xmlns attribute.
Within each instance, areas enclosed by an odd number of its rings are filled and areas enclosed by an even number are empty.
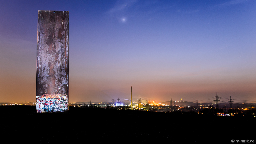
<svg viewBox="0 0 256 144"><path fill-rule="evenodd" d="M0 114L1 143L256 143L250 116L75 107L38 114L35 106L0 106Z"/></svg>

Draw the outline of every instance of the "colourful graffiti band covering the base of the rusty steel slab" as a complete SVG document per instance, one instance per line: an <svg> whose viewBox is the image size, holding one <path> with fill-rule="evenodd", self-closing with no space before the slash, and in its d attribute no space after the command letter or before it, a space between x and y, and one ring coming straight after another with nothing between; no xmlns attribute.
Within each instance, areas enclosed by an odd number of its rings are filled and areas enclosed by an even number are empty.
<svg viewBox="0 0 256 144"><path fill-rule="evenodd" d="M37 113L64 112L68 110L68 97L60 94L36 96Z"/></svg>

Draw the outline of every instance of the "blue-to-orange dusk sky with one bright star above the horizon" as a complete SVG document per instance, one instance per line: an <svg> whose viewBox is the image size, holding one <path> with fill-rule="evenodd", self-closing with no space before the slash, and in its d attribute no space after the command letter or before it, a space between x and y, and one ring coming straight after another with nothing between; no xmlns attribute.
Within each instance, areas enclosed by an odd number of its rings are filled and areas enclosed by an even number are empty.
<svg viewBox="0 0 256 144"><path fill-rule="evenodd" d="M0 102L36 101L38 10L69 11L69 102L256 101L255 0L8 0Z"/></svg>

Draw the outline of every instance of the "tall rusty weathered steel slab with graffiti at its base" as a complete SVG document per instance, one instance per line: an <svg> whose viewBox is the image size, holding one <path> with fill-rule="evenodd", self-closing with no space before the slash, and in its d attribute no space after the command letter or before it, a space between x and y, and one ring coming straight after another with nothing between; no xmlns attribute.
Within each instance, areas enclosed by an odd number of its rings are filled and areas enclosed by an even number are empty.
<svg viewBox="0 0 256 144"><path fill-rule="evenodd" d="M38 11L36 111L68 111L69 11Z"/></svg>

